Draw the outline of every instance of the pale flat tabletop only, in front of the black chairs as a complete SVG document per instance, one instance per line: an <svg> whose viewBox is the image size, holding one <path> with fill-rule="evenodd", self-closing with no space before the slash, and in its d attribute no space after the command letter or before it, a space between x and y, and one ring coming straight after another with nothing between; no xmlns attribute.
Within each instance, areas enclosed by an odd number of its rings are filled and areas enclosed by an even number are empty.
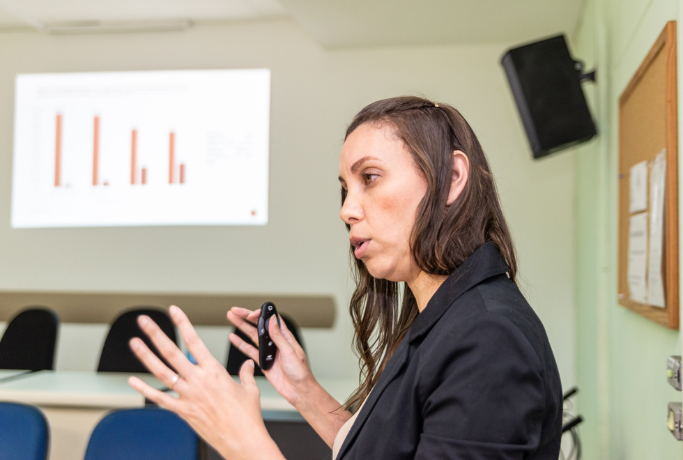
<svg viewBox="0 0 683 460"><path fill-rule="evenodd" d="M14 371L21 372L21 371ZM39 371L0 381L0 400L36 406L71 408L125 408L144 405L144 397L128 385L131 374L88 371ZM155 388L165 388L151 374L134 374ZM2 374L0 374L0 378ZM237 380L237 378L236 378ZM353 379L320 378L319 383L340 403L355 390ZM296 412L265 377L256 377L263 411Z"/></svg>

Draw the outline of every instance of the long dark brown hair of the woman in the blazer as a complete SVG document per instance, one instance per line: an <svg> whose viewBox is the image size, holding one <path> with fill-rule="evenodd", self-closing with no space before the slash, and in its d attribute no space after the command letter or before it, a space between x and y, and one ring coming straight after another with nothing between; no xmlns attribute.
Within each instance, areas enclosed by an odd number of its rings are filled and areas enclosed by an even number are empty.
<svg viewBox="0 0 683 460"><path fill-rule="evenodd" d="M450 275L479 246L492 241L507 262L514 282L516 255L496 183L481 144L460 112L450 105L436 105L413 96L379 100L353 118L346 137L366 123L390 128L427 180L427 192L417 208L410 236L417 267L431 275ZM467 155L470 170L460 196L446 206L454 151ZM342 188L342 205L345 199ZM356 286L349 309L360 356L361 382L346 408L358 406L367 397L418 314L415 296L408 286L399 306L398 283L372 277L365 264L355 259L353 249L351 245Z"/></svg>

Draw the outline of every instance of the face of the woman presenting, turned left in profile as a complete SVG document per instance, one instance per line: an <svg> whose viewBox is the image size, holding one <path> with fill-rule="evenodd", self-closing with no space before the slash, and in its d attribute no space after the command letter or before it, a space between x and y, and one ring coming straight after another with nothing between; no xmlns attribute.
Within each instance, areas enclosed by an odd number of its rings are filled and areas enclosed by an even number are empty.
<svg viewBox="0 0 683 460"><path fill-rule="evenodd" d="M403 141L388 126L360 125L342 147L339 181L346 189L340 215L351 226L356 258L373 277L415 279L410 232L427 181Z"/></svg>

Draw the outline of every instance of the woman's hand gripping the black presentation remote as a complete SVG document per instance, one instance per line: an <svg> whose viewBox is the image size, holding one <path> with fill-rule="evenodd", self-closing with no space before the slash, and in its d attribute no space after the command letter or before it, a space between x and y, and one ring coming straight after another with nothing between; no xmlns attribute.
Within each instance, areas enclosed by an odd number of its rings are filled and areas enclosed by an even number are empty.
<svg viewBox="0 0 683 460"><path fill-rule="evenodd" d="M256 323L259 320L261 310L248 310L240 307L233 307L228 312L228 319L236 328L244 332L247 337L252 339L254 344L259 343L259 333L256 330ZM286 399L292 406L297 406L298 400L302 394L306 394L313 385L317 382L311 372L311 368L306 360L306 353L292 333L287 329L284 321L281 321L282 329L279 328L275 316L270 317L270 325L268 330L270 338L273 339L277 346L277 355L273 367L267 371L263 371L268 381L273 385L275 390ZM239 350L252 358L254 362L259 363L259 349L252 344L240 339L238 335L231 334L230 342ZM260 363L259 363L260 365Z"/></svg>

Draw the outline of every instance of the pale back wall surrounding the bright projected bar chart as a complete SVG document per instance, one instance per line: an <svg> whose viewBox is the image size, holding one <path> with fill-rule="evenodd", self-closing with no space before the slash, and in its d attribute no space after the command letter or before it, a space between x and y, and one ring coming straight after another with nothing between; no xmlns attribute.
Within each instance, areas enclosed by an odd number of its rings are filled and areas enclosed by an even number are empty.
<svg viewBox="0 0 683 460"><path fill-rule="evenodd" d="M546 325L567 387L574 383L573 165L569 154L531 160L498 64L504 49L330 51L289 20L175 33L0 34L0 289L331 293L337 322L333 330L305 330L310 360L321 376L355 376L339 148L346 123L367 103L424 94L461 109L489 155L523 291ZM272 71L266 227L10 229L15 74L199 68ZM64 328L57 366L94 368L104 330ZM224 332L202 330L222 355Z"/></svg>

